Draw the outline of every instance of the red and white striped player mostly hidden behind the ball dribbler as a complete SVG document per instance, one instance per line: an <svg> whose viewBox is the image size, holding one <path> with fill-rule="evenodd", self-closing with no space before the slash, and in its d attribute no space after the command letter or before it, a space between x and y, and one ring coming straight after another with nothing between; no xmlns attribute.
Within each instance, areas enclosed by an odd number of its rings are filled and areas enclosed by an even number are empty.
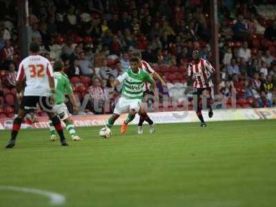
<svg viewBox="0 0 276 207"><path fill-rule="evenodd" d="M143 70L145 70L146 72L148 72L150 74L151 77L153 77L154 79L158 79L162 85L163 88L166 88L166 83L165 81L159 76L159 74L157 72L155 72L155 70L153 70L150 67L150 64L144 60L141 59L141 52L139 51L135 51L132 54L133 57L137 57L140 61L141 64L141 68ZM144 96L146 96L146 94L150 94L150 83L145 83L144 86ZM143 107L143 105L141 105L140 110L138 112L140 118L139 118L139 124L138 124L138 134L143 134L143 123L144 121L147 121L148 124L150 125L150 133L154 133L155 132L155 124L153 123L152 119L150 119L150 117L148 117L148 113L146 112L146 109Z"/></svg>

